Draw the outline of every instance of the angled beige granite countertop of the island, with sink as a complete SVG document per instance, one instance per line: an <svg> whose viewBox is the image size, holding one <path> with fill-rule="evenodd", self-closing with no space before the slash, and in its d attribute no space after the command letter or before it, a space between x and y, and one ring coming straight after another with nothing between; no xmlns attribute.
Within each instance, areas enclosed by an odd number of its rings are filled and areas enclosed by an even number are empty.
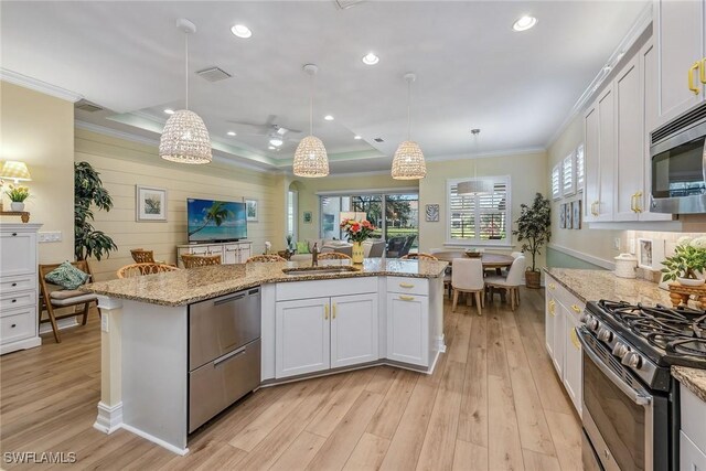
<svg viewBox="0 0 706 471"><path fill-rule="evenodd" d="M321 260L319 267L350 265L350 260ZM84 291L113 298L130 299L161 306L184 306L264 283L310 281L338 278L399 276L437 278L448 263L366 258L357 271L339 274L286 275L282 269L310 267L311 261L250 263L174 270L143 277L98 281Z"/></svg>

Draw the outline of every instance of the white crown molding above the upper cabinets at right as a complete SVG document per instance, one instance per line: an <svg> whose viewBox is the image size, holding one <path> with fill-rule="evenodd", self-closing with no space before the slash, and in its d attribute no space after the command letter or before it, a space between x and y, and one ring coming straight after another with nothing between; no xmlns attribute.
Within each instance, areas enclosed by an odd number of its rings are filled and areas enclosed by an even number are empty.
<svg viewBox="0 0 706 471"><path fill-rule="evenodd" d="M596 77L591 81L590 84L588 84L584 93L581 93L581 95L578 97L578 100L576 100L576 103L571 107L568 116L564 119L557 130L552 135L545 148L549 149L552 146L554 146L559 136L561 136L566 128L578 116L578 114L584 110L589 99L593 97L593 94L598 92L606 79L616 69L616 65L620 63L620 60L623 58L630 47L634 45L635 41L638 41L642 33L644 33L650 24L652 24L652 2L648 2L648 4L645 4L645 7L640 12L640 15L635 20L635 22L628 31L628 34L625 34L620 44L618 44L618 47L616 47L613 53L608 58L606 66L610 66L610 69L606 71L605 66L601 67Z"/></svg>

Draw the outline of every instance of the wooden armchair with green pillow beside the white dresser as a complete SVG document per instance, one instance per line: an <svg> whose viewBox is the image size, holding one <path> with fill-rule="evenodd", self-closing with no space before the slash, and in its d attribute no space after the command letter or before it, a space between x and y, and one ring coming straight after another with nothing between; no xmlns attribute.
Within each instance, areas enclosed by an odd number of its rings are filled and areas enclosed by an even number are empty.
<svg viewBox="0 0 706 471"><path fill-rule="evenodd" d="M60 264L52 265L40 265L39 266L39 276L40 276L40 299L39 299L39 321L51 322L52 331L54 332L54 340L56 343L61 343L62 339L58 335L58 327L56 321L74 318L76 315L83 314L83 320L81 322L82 325L86 325L86 320L88 319L88 310L90 309L90 303L95 303L96 308L98 308L98 298L96 295L90 292L84 292L78 290L68 290L68 289L58 289L56 285L46 281L44 278L46 274L57 268ZM81 261L72 261L74 267L78 268L85 274L90 274L90 267L88 267L88 263L86 260ZM89 278L88 282L92 282L93 279ZM83 311L78 312L69 312L62 315L56 315L54 313L55 309L68 308L83 304ZM75 308L74 308L75 309ZM46 319L42 319L42 312L46 310ZM100 309L98 308L98 314L100 314Z"/></svg>

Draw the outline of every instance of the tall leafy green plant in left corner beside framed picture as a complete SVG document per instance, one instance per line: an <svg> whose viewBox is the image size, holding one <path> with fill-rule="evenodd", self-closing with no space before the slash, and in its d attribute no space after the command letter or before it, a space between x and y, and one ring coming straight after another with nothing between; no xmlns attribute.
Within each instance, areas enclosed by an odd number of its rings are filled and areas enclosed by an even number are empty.
<svg viewBox="0 0 706 471"><path fill-rule="evenodd" d="M103 255L109 256L117 250L113 239L103 231L96 231L88 222L93 221L92 204L99 210L110 211L113 199L103 188L99 173L88 162L74 164L74 254L76 260L85 260L94 256L100 260Z"/></svg>

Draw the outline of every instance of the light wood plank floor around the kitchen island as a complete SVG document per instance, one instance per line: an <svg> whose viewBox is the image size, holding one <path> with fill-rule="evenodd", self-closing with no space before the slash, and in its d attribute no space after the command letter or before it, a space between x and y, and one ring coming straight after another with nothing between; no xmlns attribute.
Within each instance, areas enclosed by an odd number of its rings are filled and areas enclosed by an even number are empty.
<svg viewBox="0 0 706 471"><path fill-rule="evenodd" d="M263 388L193 436L186 457L92 428L93 315L58 345L46 336L0 358L0 451L74 451L79 469L579 470L580 425L544 349L543 296L523 289L517 311L495 300L483 317L447 301L434 375L381 366Z"/></svg>

